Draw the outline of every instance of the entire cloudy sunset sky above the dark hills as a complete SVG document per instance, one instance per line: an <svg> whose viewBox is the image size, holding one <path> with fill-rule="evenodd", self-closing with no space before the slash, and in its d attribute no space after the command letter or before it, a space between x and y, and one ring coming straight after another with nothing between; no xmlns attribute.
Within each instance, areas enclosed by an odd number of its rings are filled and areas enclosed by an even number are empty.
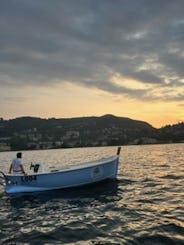
<svg viewBox="0 0 184 245"><path fill-rule="evenodd" d="M0 0L0 117L184 121L183 0Z"/></svg>

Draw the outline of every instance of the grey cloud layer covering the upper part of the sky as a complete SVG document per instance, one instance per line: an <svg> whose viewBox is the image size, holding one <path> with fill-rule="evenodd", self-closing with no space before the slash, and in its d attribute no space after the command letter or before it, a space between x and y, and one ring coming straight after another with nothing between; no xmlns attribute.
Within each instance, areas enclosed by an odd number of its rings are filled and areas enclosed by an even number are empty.
<svg viewBox="0 0 184 245"><path fill-rule="evenodd" d="M1 1L0 86L68 81L132 99L182 101L183 9L181 0ZM144 88L117 85L113 74Z"/></svg>

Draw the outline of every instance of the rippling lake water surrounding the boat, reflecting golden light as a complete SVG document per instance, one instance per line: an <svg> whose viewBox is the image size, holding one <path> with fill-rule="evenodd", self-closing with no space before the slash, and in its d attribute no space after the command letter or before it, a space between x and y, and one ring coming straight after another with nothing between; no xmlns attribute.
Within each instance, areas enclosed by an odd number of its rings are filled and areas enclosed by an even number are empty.
<svg viewBox="0 0 184 245"><path fill-rule="evenodd" d="M116 147L23 152L59 168ZM7 172L16 152L0 153ZM0 186L0 244L184 244L184 144L124 146L117 181L8 196Z"/></svg>

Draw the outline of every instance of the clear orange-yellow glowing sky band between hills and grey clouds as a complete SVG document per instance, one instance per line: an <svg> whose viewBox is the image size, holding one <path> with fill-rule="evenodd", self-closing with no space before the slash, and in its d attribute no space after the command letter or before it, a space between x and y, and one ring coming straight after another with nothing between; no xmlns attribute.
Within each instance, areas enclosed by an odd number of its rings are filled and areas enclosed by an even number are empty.
<svg viewBox="0 0 184 245"><path fill-rule="evenodd" d="M26 93L23 88L21 92ZM36 99L38 97L39 100ZM97 89L91 91L90 88L71 84L45 88L44 93L42 88L38 88L32 93L30 91L24 102L9 102L6 104L6 111L3 108L1 112L5 119L19 116L73 118L113 114L146 121L156 128L184 121L182 105L174 102L152 103L130 100L120 95L108 94Z"/></svg>

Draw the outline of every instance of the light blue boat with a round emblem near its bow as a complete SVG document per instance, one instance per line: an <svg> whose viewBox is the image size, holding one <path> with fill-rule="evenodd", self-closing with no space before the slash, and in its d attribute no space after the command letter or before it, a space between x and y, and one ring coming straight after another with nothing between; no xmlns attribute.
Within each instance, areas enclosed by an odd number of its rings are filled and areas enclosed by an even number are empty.
<svg viewBox="0 0 184 245"><path fill-rule="evenodd" d="M118 172L119 154L77 166L67 166L60 170L39 171L39 164L32 165L28 175L1 173L5 192L8 194L47 191L93 184L106 179L115 179Z"/></svg>

